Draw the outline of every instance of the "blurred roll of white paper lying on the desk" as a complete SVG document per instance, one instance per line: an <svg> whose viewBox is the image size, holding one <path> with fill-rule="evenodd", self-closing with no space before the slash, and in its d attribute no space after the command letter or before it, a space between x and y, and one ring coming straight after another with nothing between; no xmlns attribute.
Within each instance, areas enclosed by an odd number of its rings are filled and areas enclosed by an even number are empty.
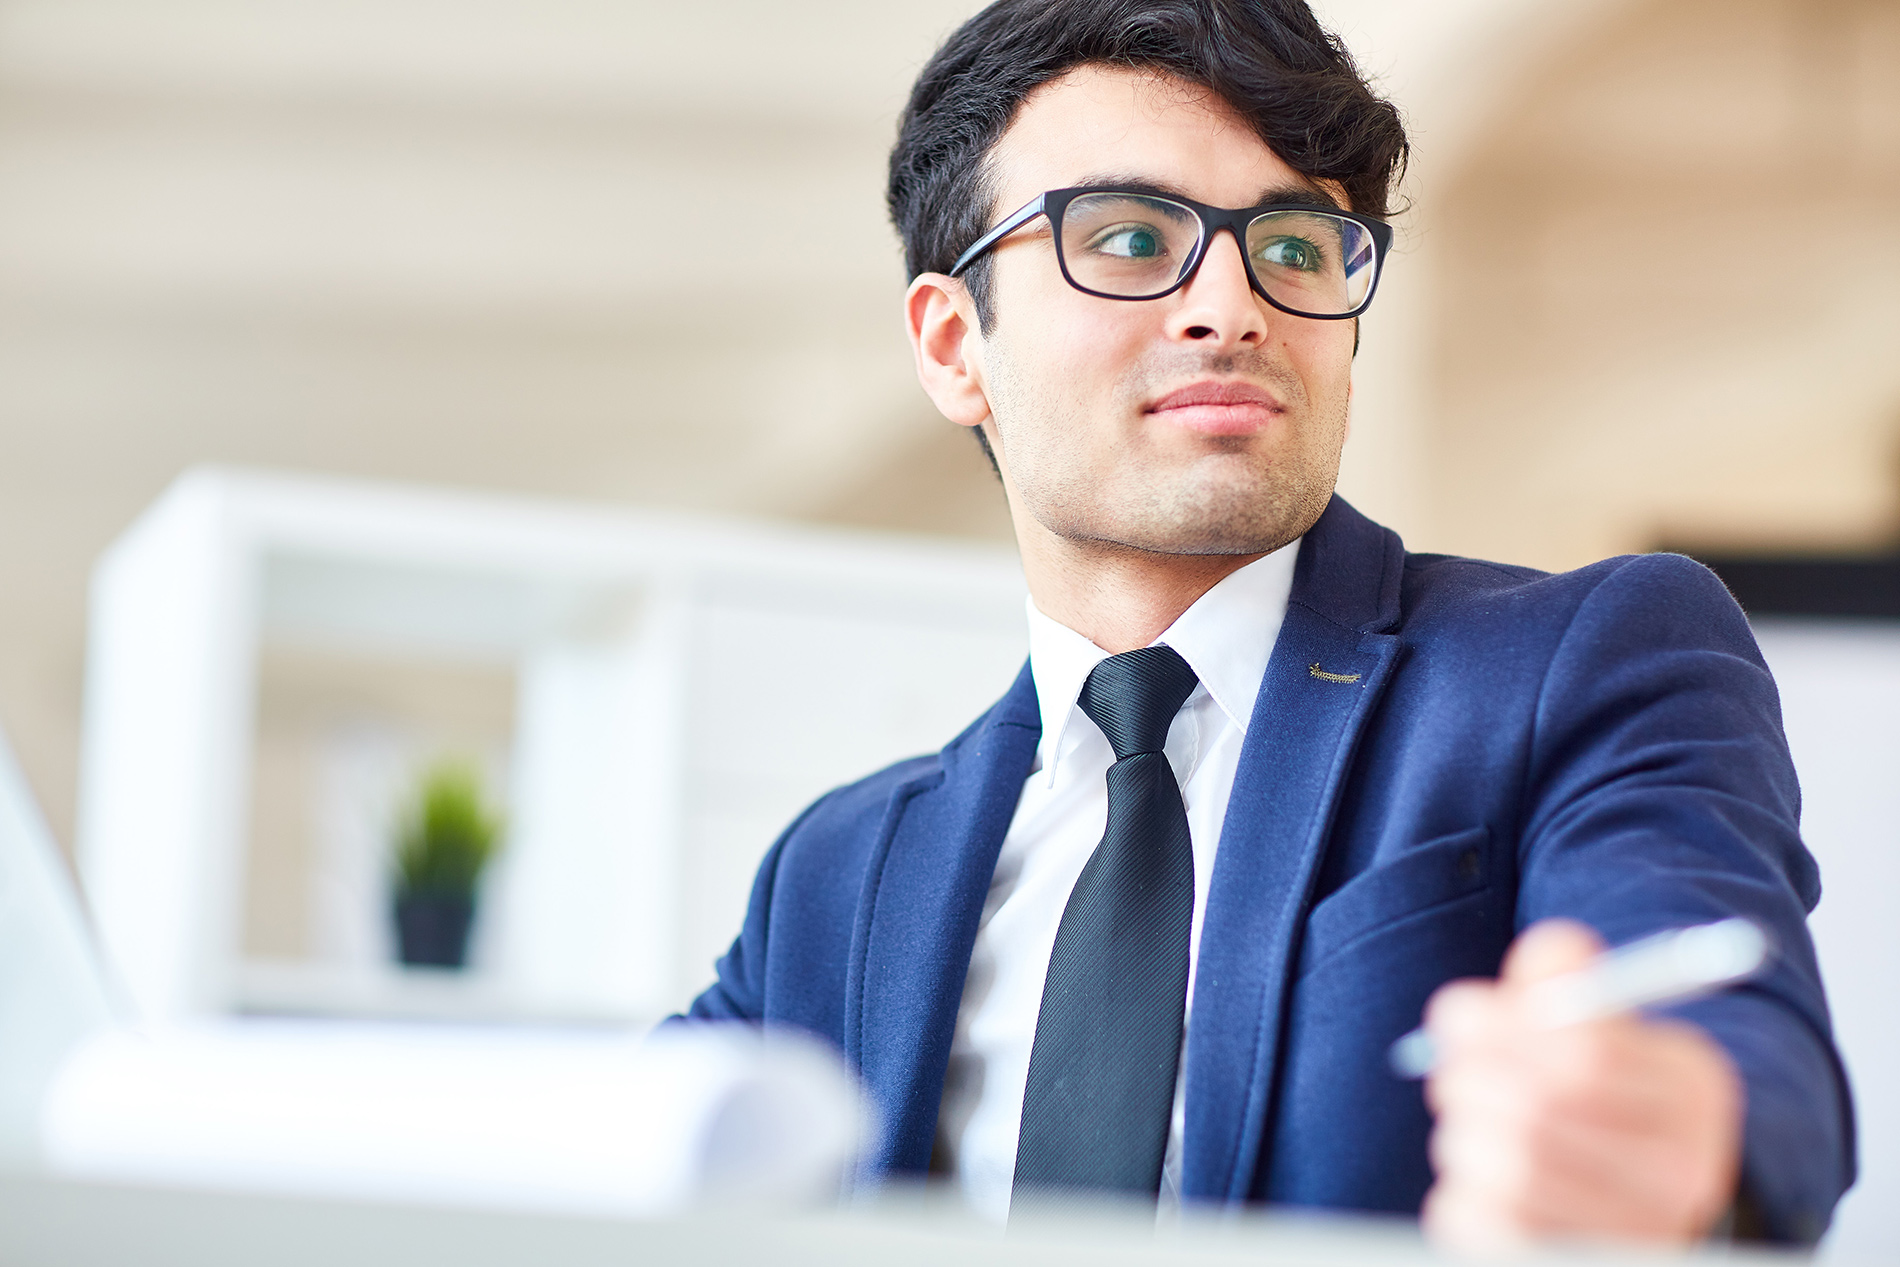
<svg viewBox="0 0 1900 1267"><path fill-rule="evenodd" d="M87 1180L652 1216L826 1202L863 1130L794 1035L234 1020L91 1039L44 1147Z"/></svg>

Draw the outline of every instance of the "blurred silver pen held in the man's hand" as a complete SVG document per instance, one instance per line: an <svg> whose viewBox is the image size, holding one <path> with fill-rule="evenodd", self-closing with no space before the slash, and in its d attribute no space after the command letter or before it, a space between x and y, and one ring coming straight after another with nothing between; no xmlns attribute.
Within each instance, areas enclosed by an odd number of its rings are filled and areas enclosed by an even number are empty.
<svg viewBox="0 0 1900 1267"><path fill-rule="evenodd" d="M1531 986L1528 1001L1550 1030L1638 1007L1685 1003L1748 980L1769 961L1769 935L1752 919L1670 929L1619 946L1590 967ZM1425 1077L1438 1052L1425 1030L1414 1030L1393 1043L1385 1058L1398 1077Z"/></svg>

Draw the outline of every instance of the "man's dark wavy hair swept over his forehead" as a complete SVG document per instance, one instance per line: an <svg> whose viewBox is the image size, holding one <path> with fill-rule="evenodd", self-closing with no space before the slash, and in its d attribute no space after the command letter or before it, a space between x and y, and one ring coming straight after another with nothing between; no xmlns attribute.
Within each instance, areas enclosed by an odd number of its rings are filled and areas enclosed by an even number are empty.
<svg viewBox="0 0 1900 1267"><path fill-rule="evenodd" d="M1085 63L1159 70L1233 106L1288 167L1387 215L1406 131L1305 0L996 0L923 66L897 129L885 198L910 275L950 272L998 215L990 148L1039 84ZM988 258L963 274L982 329Z"/></svg>

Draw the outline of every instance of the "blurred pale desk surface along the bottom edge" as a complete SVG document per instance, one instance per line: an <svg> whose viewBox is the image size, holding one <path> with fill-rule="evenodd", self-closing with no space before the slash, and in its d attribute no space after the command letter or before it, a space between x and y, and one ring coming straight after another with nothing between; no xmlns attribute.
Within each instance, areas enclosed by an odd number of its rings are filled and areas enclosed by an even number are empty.
<svg viewBox="0 0 1900 1267"><path fill-rule="evenodd" d="M1577 1265L1659 1261L1609 1252L1537 1258ZM1756 1252L1723 1258L1797 1261ZM929 1201L783 1218L701 1212L631 1221L0 1178L4 1267L1423 1267L1440 1261L1446 1259L1431 1254L1410 1227L1378 1221L1250 1218L1157 1231L1138 1220L1102 1218L1005 1239Z"/></svg>

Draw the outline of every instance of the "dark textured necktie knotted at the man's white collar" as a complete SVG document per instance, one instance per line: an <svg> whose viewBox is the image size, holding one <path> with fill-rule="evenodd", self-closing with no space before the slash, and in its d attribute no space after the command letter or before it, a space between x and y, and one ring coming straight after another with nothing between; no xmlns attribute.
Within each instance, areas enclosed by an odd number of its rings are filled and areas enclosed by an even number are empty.
<svg viewBox="0 0 1900 1267"><path fill-rule="evenodd" d="M1161 748L1195 688L1172 648L1110 655L1081 688L1102 728L1108 830L1056 929L1030 1049L1013 1210L1064 1193L1153 1197L1188 997L1193 847Z"/></svg>

